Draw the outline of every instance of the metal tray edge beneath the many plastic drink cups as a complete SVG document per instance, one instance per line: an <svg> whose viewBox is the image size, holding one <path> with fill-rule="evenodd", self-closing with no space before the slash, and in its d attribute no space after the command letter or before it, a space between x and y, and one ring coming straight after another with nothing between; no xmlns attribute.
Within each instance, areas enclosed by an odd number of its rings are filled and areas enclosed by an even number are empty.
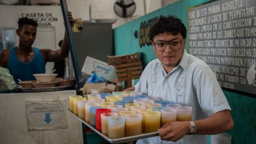
<svg viewBox="0 0 256 144"><path fill-rule="evenodd" d="M123 143L123 142L128 142L128 141L134 141L134 140L139 140L139 139L146 139L149 137L155 137L158 136L159 132L151 132L151 133L145 133L145 134L140 134L140 135L134 135L131 137L124 137L124 138L119 138L119 139L111 139L107 137L105 134L101 133L98 131L95 127L92 125L86 123L83 119L77 117L75 114L73 114L69 108L67 108L67 111L70 115L74 116L76 119L78 119L80 122L84 123L86 126L90 127L95 133L98 133L103 139L107 140L110 143Z"/></svg>

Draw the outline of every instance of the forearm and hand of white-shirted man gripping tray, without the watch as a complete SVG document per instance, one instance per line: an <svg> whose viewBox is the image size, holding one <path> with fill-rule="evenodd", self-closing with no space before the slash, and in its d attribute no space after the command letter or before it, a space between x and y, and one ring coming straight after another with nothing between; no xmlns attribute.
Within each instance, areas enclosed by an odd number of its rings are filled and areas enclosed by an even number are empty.
<svg viewBox="0 0 256 144"><path fill-rule="evenodd" d="M233 129L233 118L229 110L222 110L214 113L205 119L194 121L197 130L194 134L218 134ZM189 121L169 122L159 129L159 136L162 140L178 141L184 135L189 134Z"/></svg>

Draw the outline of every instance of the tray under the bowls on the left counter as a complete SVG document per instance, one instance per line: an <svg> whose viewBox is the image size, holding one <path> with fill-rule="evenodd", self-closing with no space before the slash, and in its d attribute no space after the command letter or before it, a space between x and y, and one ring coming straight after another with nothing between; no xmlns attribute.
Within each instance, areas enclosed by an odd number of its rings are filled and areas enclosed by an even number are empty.
<svg viewBox="0 0 256 144"><path fill-rule="evenodd" d="M20 85L14 88L14 91L18 92L51 92L51 91L61 91L61 90L68 90L73 89L75 85L68 85L68 86L56 86L56 87L42 87L42 88L23 88Z"/></svg>

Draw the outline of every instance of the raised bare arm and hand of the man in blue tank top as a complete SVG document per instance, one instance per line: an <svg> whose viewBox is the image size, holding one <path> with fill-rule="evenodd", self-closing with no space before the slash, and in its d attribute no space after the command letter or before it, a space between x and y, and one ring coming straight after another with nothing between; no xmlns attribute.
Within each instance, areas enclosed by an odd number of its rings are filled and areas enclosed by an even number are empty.
<svg viewBox="0 0 256 144"><path fill-rule="evenodd" d="M74 26L74 19L72 17L71 12L68 12L69 15L69 21L71 23L71 26ZM64 38L63 38L63 42L61 45L61 49L53 51L50 49L44 49L41 50L43 53L45 53L45 61L58 61L61 59L64 59L68 56L69 53L69 46L68 46L68 41L67 41L67 35L65 33Z"/></svg>

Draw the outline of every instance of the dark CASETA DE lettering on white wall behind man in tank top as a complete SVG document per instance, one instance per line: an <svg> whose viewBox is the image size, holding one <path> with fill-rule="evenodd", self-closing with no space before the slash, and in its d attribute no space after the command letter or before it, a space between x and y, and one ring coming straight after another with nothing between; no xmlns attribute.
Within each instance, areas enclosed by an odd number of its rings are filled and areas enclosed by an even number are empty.
<svg viewBox="0 0 256 144"><path fill-rule="evenodd" d="M28 17L37 21L39 26L52 26L52 22L58 21L57 17L53 17L52 13L22 13L21 17Z"/></svg>

